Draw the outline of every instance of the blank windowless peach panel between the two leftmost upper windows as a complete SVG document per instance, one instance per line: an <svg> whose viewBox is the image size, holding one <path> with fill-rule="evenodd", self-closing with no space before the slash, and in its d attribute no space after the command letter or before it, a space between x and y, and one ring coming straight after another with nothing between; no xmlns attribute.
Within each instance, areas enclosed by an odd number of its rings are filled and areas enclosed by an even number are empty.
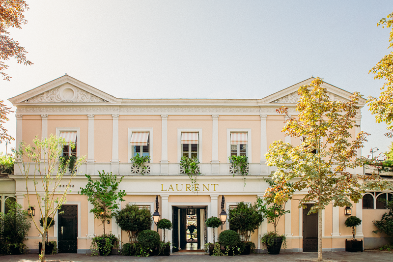
<svg viewBox="0 0 393 262"><path fill-rule="evenodd" d="M112 126L111 115L94 116L94 159L96 163L111 162Z"/></svg>

